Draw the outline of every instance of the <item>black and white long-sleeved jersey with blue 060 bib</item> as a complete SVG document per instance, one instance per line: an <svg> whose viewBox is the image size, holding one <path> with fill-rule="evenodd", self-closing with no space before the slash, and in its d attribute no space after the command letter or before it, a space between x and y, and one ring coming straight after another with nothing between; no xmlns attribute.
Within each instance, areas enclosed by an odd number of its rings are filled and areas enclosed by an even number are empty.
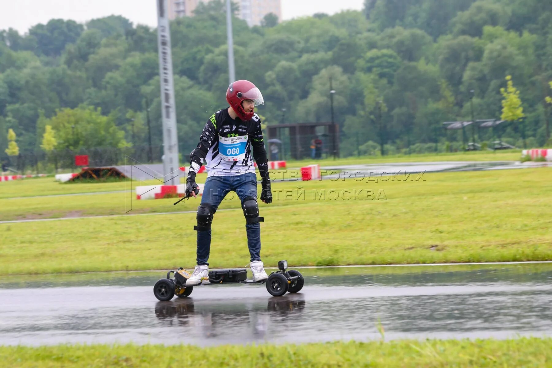
<svg viewBox="0 0 552 368"><path fill-rule="evenodd" d="M203 161L207 176L254 173L253 159L264 178L268 174L261 119L232 119L228 108L216 111L206 122L199 144L190 153L190 172L197 173Z"/></svg>

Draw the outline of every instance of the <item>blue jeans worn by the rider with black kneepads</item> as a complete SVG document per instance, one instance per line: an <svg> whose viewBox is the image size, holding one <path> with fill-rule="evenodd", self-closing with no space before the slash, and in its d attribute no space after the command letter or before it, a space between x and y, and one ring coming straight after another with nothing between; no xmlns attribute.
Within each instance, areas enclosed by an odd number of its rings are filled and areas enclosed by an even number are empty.
<svg viewBox="0 0 552 368"><path fill-rule="evenodd" d="M257 198L257 175L246 173L241 175L226 175L222 177L209 177L205 180L201 204L209 204L219 207L220 202L230 191L235 191L240 201L250 196ZM245 217L243 218L245 221ZM261 225L257 223L246 224L247 247L251 255L251 262L261 260ZM211 249L211 230L198 231L198 265L209 265L209 251Z"/></svg>

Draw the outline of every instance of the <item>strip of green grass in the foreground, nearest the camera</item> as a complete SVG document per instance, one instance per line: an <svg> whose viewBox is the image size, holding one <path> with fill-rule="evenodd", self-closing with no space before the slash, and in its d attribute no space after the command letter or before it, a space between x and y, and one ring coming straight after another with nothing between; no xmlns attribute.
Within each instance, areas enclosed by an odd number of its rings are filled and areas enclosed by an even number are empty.
<svg viewBox="0 0 552 368"><path fill-rule="evenodd" d="M7 367L550 367L552 339L0 347Z"/></svg>

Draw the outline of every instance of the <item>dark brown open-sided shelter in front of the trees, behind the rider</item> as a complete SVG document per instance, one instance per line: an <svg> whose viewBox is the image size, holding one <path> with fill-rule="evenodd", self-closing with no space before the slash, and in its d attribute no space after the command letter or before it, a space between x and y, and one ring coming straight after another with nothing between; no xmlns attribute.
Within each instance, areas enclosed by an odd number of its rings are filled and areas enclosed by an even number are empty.
<svg viewBox="0 0 552 368"><path fill-rule="evenodd" d="M319 126L324 127L322 134L316 132ZM300 124L279 124L267 126L268 140L279 139L285 146L285 133L289 136L289 152L282 152L282 158L302 159L311 157L311 141L322 140L323 153L327 157L339 157L339 127L332 122L307 122ZM283 150L282 150L283 151Z"/></svg>

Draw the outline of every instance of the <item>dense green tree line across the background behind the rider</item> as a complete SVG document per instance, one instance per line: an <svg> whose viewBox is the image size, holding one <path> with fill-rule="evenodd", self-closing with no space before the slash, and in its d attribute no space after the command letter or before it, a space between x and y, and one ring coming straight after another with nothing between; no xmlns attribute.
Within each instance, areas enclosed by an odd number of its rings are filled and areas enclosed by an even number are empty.
<svg viewBox="0 0 552 368"><path fill-rule="evenodd" d="M214 0L171 22L184 150L226 105L224 12ZM504 141L550 144L552 2L365 0L362 12L279 24L269 14L252 28L233 18L233 36L236 77L261 89L266 124L330 121L331 79L342 156L444 150L447 141L461 149L461 132L442 123L472 116L513 116ZM2 30L0 157L14 144L18 153L161 145L158 78L156 30L118 15ZM505 115L508 83L521 114ZM475 134L491 141L496 131Z"/></svg>

